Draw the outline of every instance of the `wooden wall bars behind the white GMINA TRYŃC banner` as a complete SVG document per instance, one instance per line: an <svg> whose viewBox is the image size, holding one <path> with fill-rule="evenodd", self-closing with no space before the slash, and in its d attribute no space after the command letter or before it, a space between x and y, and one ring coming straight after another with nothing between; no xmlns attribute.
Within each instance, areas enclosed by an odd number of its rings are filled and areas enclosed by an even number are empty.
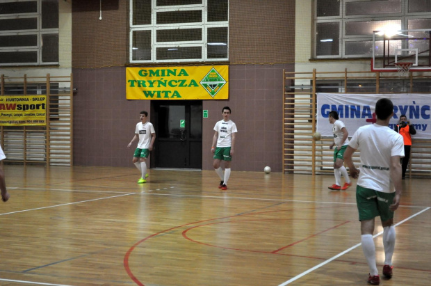
<svg viewBox="0 0 431 286"><path fill-rule="evenodd" d="M382 75L383 74L383 75ZM332 137L314 141L316 132L316 93L428 93L423 82L430 72L414 72L407 78L382 72L286 72L283 71L283 171L284 173L332 174L334 151ZM422 84L417 84L421 82ZM362 83L359 84L359 83ZM420 86L420 88L415 88ZM396 88L393 88L393 87ZM396 90L398 89L398 90ZM328 124L330 124L328 122ZM349 134L351 137L353 134ZM359 165L360 150L353 160ZM431 177L431 140L412 136L412 154L407 176Z"/></svg>

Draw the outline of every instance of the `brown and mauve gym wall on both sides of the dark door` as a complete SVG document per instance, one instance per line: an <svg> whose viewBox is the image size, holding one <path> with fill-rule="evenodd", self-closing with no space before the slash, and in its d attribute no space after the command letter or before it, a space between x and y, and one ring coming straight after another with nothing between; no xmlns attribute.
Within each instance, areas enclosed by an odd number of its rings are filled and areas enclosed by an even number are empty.
<svg viewBox="0 0 431 286"><path fill-rule="evenodd" d="M72 1L74 164L133 167L127 144L150 102L126 100L129 1L103 1L101 20L93 2ZM282 171L282 71L293 70L294 24L293 0L229 1L229 100L203 102L203 169L212 169L213 127L228 105L238 126L233 170Z"/></svg>

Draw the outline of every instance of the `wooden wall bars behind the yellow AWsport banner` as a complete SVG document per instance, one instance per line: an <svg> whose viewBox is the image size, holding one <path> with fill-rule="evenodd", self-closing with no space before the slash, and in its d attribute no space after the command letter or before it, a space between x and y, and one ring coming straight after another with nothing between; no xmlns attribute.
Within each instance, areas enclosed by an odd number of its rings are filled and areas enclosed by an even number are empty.
<svg viewBox="0 0 431 286"><path fill-rule="evenodd" d="M70 77L7 77L0 96L47 95L47 125L0 126L4 161L47 166L73 165L73 86Z"/></svg>

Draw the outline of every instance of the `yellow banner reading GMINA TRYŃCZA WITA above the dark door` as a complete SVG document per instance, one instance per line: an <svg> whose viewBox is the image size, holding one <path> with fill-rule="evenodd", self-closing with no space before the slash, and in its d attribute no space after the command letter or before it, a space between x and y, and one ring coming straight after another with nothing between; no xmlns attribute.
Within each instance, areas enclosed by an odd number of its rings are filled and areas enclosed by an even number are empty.
<svg viewBox="0 0 431 286"><path fill-rule="evenodd" d="M127 100L227 100L229 65L127 67Z"/></svg>

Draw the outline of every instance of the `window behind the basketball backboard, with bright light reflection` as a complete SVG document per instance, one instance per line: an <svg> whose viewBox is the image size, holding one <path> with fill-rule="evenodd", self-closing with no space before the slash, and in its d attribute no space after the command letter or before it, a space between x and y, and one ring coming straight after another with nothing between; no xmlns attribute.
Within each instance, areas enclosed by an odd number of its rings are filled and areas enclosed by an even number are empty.
<svg viewBox="0 0 431 286"><path fill-rule="evenodd" d="M431 0L316 0L315 4L315 58L371 57L373 49L377 55L383 50L382 41L373 47L373 31L431 28ZM401 43L391 45L396 48Z"/></svg>

